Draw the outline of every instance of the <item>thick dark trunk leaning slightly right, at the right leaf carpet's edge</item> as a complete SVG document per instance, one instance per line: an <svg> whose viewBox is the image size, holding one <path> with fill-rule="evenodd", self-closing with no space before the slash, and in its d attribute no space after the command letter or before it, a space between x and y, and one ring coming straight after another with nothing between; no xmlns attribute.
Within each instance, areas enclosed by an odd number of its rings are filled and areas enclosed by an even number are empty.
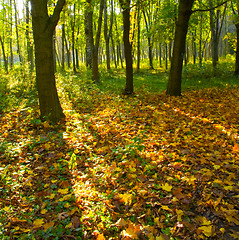
<svg viewBox="0 0 239 240"><path fill-rule="evenodd" d="M173 56L167 86L167 94L171 96L181 95L181 80L183 56L185 53L185 43L188 31L188 22L192 14L194 0L180 0L178 10L178 20L176 23Z"/></svg>

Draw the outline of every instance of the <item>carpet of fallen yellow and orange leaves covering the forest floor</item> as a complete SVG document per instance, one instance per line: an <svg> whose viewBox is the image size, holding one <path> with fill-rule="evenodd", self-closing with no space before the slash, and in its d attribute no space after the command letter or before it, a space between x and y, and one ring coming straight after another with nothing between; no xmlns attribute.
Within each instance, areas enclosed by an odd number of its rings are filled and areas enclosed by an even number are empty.
<svg viewBox="0 0 239 240"><path fill-rule="evenodd" d="M125 97L59 78L65 123L34 97L0 116L0 239L239 239L238 87Z"/></svg>

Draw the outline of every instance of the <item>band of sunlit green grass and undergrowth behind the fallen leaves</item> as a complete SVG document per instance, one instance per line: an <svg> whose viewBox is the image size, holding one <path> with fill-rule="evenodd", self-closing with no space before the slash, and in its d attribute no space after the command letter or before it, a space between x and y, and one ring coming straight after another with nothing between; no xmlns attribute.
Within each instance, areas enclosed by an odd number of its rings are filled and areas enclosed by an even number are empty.
<svg viewBox="0 0 239 240"><path fill-rule="evenodd" d="M238 87L239 80L233 76L234 62L232 56L220 59L216 72L213 71L211 61L203 62L202 66L188 63L183 68L182 92L213 87ZM160 68L156 61L155 70L150 70L147 62L142 62L141 66L138 72L134 69L135 92L165 91L169 71ZM15 67L9 74L0 69L0 73L0 113L37 103L34 74L28 70L23 72L19 67ZM125 69L112 68L107 71L104 65L100 65L100 83L93 84L91 71L82 64L76 75L71 70L58 71L57 82L60 96L67 95L70 100L74 99L77 105L90 108L91 95L95 92L109 95L122 93L125 86Z"/></svg>

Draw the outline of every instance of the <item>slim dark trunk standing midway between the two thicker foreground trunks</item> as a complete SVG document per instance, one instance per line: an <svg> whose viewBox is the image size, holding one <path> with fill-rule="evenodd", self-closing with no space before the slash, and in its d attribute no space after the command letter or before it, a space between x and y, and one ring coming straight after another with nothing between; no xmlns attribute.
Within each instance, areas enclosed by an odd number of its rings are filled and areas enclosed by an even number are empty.
<svg viewBox="0 0 239 240"><path fill-rule="evenodd" d="M133 84L133 66L132 66L132 46L130 44L129 32L130 32L130 0L120 0L120 5L123 9L123 41L124 41L124 53L126 61L126 86L124 94L132 94L134 92Z"/></svg>

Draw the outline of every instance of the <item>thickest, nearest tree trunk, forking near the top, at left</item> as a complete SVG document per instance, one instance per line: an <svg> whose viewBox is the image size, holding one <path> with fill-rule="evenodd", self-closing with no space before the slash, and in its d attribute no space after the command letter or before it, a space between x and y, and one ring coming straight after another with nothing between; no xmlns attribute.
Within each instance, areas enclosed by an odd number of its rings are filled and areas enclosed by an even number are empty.
<svg viewBox="0 0 239 240"><path fill-rule="evenodd" d="M53 34L65 0L58 0L52 16L47 0L31 0L32 26L35 43L36 83L41 119L58 122L65 117L56 89Z"/></svg>

